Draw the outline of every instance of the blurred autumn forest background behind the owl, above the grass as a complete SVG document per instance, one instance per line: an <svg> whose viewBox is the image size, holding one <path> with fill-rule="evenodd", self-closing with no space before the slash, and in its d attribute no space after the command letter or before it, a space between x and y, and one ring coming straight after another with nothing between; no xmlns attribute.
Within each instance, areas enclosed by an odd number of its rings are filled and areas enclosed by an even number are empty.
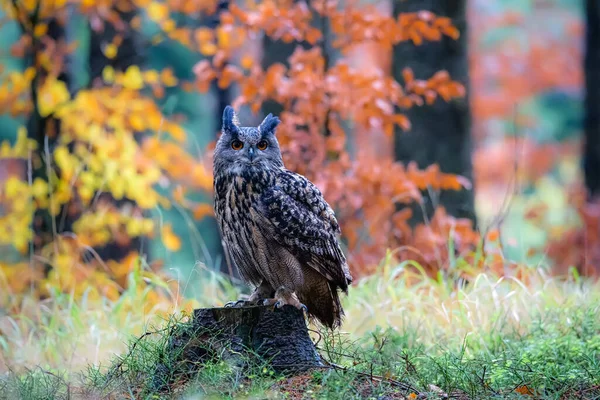
<svg viewBox="0 0 600 400"><path fill-rule="evenodd" d="M388 249L432 277L597 274L600 7L583 3L4 1L0 308L115 300L132 273L176 297L235 279L211 200L227 104L281 117L357 277Z"/></svg>

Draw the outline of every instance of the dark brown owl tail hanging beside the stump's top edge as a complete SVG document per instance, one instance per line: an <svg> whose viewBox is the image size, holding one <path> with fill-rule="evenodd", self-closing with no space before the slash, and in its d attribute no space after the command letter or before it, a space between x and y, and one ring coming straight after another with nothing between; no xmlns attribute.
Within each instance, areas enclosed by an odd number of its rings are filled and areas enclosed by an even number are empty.
<svg viewBox="0 0 600 400"><path fill-rule="evenodd" d="M344 310L336 286L326 279L311 285L310 293L301 301L308 308L309 317L316 318L329 329L336 329L342 323Z"/></svg>

